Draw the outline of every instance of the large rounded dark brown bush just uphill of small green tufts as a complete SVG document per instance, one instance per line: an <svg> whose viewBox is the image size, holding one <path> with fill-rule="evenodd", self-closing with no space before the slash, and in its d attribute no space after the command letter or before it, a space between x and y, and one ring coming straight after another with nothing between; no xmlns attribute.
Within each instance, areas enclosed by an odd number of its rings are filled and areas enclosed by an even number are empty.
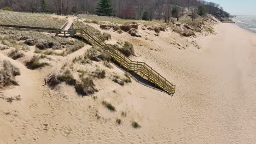
<svg viewBox="0 0 256 144"><path fill-rule="evenodd" d="M81 95L89 95L97 92L94 81L91 77L82 78L82 82L75 84L75 91Z"/></svg>

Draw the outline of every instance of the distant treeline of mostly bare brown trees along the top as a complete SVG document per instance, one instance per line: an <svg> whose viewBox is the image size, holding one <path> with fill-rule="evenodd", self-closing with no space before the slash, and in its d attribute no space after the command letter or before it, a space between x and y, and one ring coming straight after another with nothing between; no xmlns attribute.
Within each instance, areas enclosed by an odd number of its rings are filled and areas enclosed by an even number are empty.
<svg viewBox="0 0 256 144"><path fill-rule="evenodd" d="M198 0L0 0L0 8L31 13L98 14L100 3L110 3L112 16L123 19L169 19L173 7L203 8L205 13L229 17L219 4ZM102 15L102 14L101 14ZM109 15L109 14L108 14Z"/></svg>

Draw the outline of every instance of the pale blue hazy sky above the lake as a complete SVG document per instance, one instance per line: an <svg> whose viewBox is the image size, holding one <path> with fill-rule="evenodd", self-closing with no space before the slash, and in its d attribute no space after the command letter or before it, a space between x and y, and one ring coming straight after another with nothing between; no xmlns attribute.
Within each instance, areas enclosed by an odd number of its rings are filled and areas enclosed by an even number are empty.
<svg viewBox="0 0 256 144"><path fill-rule="evenodd" d="M256 0L207 0L218 3L232 15L256 15Z"/></svg>

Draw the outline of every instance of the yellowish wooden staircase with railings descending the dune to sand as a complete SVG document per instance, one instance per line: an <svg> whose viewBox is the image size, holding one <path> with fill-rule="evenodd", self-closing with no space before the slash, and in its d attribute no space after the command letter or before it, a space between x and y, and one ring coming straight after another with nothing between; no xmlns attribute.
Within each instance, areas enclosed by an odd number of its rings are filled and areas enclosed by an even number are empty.
<svg viewBox="0 0 256 144"><path fill-rule="evenodd" d="M129 57L126 57L119 50L115 49L112 45L107 45L104 41L98 39L92 32L88 29L75 29L75 34L78 37L82 37L84 40L88 41L92 46L101 47L104 51L108 52L113 60L119 63L122 67L127 70L134 71L135 73L141 75L141 77L147 77L148 81L151 81L166 93L173 95L175 93L175 85L167 81L163 76L157 73L152 67L144 62L132 61Z"/></svg>

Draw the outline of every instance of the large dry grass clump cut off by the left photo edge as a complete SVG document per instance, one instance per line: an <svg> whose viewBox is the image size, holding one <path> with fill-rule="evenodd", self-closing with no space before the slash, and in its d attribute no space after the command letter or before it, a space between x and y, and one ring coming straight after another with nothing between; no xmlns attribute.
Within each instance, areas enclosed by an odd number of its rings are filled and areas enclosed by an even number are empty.
<svg viewBox="0 0 256 144"><path fill-rule="evenodd" d="M1 61L0 67L0 88L8 87L10 85L18 86L15 76L20 75L20 70L11 64L9 61Z"/></svg>

